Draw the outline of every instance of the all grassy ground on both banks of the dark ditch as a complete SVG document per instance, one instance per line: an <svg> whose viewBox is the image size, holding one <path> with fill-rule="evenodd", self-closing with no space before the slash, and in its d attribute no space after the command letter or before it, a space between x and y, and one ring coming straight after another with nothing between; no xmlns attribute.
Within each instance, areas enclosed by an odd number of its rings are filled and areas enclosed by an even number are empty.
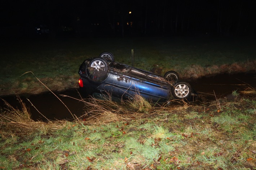
<svg viewBox="0 0 256 170"><path fill-rule="evenodd" d="M242 38L29 40L1 47L0 96L78 88L80 64L103 51L130 65L134 49L136 67L162 75L175 70L182 78L256 70L255 41ZM21 110L6 103L0 169L253 170L255 94L248 85L231 100L169 106L140 96L123 103L81 99L85 115L72 115L75 121L34 121L22 101Z"/></svg>

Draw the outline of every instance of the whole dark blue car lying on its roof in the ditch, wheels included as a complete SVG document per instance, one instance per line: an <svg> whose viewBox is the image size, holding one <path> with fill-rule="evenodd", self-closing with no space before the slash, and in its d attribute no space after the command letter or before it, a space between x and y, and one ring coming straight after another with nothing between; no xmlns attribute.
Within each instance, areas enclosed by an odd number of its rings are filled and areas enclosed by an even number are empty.
<svg viewBox="0 0 256 170"><path fill-rule="evenodd" d="M179 81L179 75L168 71L164 77L117 63L110 52L102 52L98 58L86 59L79 68L79 88L84 96L112 100L132 100L141 95L153 102L172 99L193 101L197 94L189 83Z"/></svg>

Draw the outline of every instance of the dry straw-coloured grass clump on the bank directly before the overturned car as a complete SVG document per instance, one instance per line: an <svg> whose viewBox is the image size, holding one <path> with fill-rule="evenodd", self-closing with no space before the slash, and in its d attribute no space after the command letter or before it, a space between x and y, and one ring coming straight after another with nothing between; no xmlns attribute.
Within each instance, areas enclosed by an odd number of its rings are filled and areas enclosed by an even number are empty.
<svg viewBox="0 0 256 170"><path fill-rule="evenodd" d="M84 102L85 114L78 118L85 118L89 124L107 124L117 121L139 120L147 116L155 116L168 112L168 107L155 104L154 106L140 95L133 100L115 102L111 97L106 100L89 98L80 100ZM143 114L142 114L143 113Z"/></svg>

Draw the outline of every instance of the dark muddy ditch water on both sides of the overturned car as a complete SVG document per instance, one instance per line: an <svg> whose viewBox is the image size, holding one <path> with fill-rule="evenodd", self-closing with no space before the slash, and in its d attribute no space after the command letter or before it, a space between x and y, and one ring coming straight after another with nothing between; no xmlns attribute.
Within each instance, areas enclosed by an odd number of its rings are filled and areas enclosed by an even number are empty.
<svg viewBox="0 0 256 170"><path fill-rule="evenodd" d="M234 91L243 91L248 87L256 89L256 72L218 74L185 81L189 82L191 87L197 91L201 100L214 101L216 97L225 97ZM81 99L79 89L69 89L68 91L56 92L54 94L63 103L51 92L39 95L20 95L19 97L29 109L33 120L72 119L74 115L80 117L84 114L84 103L79 101ZM62 95L69 97L63 97ZM14 108L21 108L16 95L0 96L0 98ZM2 109L6 107L3 100L0 100L0 107Z"/></svg>

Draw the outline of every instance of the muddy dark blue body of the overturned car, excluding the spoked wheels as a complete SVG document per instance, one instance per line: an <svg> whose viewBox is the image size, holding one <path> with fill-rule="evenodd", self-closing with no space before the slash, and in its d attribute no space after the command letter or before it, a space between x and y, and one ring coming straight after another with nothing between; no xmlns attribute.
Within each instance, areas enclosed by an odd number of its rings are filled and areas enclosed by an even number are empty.
<svg viewBox="0 0 256 170"><path fill-rule="evenodd" d="M107 70L97 75L100 77L98 78L89 71L92 69L90 66L92 60L97 58L85 60L79 68L79 87L84 96L91 95L97 98L111 96L126 100L132 99L134 95L140 95L153 102L173 99L172 88L176 82L169 82L160 75L110 60L106 60Z"/></svg>

